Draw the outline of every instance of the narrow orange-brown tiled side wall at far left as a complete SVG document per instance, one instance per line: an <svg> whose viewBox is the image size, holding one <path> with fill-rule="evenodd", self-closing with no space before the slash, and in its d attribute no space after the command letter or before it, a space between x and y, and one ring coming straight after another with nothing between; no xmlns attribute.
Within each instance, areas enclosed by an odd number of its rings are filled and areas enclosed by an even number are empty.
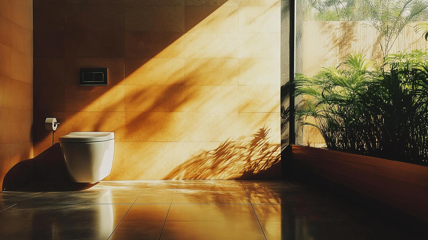
<svg viewBox="0 0 428 240"><path fill-rule="evenodd" d="M32 0L0 1L0 187L10 168L33 157L32 12Z"/></svg>

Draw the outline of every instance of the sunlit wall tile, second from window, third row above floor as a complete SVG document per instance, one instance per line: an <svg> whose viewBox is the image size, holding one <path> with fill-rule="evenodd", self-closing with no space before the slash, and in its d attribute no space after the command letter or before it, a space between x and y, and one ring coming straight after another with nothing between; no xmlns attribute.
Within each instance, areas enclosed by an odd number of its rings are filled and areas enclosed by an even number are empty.
<svg viewBox="0 0 428 240"><path fill-rule="evenodd" d="M186 112L238 112L238 86L184 86Z"/></svg>

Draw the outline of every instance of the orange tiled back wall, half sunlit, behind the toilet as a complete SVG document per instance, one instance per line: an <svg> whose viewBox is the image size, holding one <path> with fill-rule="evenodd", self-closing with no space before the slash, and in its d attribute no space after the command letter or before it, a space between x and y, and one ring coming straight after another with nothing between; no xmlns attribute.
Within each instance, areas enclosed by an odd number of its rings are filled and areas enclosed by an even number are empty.
<svg viewBox="0 0 428 240"><path fill-rule="evenodd" d="M115 132L108 180L262 172L279 155L279 65L279 0L34 0L34 153L56 117L55 141ZM79 86L79 67L108 67L108 86Z"/></svg>

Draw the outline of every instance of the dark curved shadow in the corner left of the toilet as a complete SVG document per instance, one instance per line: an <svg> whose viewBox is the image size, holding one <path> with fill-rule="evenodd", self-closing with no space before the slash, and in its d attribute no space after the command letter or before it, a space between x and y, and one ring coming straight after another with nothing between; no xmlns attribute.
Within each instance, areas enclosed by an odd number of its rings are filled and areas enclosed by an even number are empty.
<svg viewBox="0 0 428 240"><path fill-rule="evenodd" d="M74 183L68 176L59 143L33 159L18 162L5 175L3 191L67 192L88 189L97 183Z"/></svg>

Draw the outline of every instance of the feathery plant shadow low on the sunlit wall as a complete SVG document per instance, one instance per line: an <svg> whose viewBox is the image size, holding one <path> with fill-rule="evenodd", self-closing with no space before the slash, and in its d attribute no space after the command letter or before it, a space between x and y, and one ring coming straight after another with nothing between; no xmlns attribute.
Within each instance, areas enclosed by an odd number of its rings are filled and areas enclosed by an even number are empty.
<svg viewBox="0 0 428 240"><path fill-rule="evenodd" d="M177 166L165 179L234 179L266 171L280 160L280 145L270 141L269 133L270 128L263 126L250 141L228 139Z"/></svg>

